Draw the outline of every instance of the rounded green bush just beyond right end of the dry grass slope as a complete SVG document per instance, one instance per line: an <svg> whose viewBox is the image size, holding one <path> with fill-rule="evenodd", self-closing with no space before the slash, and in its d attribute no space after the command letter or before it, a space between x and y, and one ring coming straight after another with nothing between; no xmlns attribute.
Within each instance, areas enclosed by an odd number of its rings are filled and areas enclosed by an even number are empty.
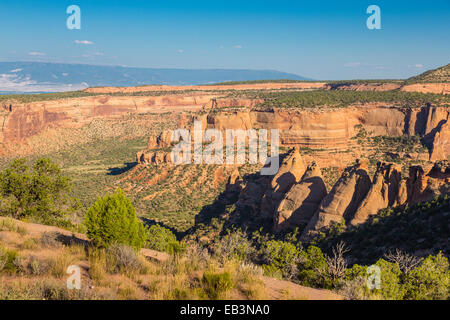
<svg viewBox="0 0 450 320"><path fill-rule="evenodd" d="M279 269L283 276L292 278L297 273L299 250L292 243L270 240L262 248L264 263Z"/></svg>

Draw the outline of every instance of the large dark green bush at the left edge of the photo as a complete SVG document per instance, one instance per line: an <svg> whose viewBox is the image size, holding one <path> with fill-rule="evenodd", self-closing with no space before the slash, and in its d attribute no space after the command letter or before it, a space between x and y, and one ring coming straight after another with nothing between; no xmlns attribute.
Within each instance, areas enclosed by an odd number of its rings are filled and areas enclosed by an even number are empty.
<svg viewBox="0 0 450 320"><path fill-rule="evenodd" d="M70 179L50 159L38 159L32 168L16 159L0 173L0 215L54 224L79 209L70 191Z"/></svg>

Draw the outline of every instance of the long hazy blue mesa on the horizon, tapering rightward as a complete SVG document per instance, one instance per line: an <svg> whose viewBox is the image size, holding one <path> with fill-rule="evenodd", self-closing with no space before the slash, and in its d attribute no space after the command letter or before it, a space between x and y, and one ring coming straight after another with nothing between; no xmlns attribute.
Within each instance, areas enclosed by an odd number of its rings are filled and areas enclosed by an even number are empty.
<svg viewBox="0 0 450 320"><path fill-rule="evenodd" d="M97 86L199 85L247 80L311 80L276 70L162 69L44 62L0 62L0 92L36 93Z"/></svg>

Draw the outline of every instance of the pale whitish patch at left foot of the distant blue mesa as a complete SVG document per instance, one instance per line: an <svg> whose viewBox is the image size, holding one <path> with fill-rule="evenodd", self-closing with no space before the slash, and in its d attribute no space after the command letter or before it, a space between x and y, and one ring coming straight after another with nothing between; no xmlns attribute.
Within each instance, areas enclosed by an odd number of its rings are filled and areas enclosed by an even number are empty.
<svg viewBox="0 0 450 320"><path fill-rule="evenodd" d="M0 91L10 92L62 92L86 89L87 83L58 84L51 82L38 83L31 80L29 75L23 77L18 74L0 74Z"/></svg>

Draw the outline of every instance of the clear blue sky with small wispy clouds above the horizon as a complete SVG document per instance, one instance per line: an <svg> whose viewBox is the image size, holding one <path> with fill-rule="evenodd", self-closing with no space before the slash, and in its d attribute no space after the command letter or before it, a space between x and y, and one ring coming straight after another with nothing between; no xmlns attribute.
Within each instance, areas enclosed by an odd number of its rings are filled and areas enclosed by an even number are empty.
<svg viewBox="0 0 450 320"><path fill-rule="evenodd" d="M81 30L66 28L72 4ZM450 62L450 0L3 0L0 39L0 61L405 78Z"/></svg>

